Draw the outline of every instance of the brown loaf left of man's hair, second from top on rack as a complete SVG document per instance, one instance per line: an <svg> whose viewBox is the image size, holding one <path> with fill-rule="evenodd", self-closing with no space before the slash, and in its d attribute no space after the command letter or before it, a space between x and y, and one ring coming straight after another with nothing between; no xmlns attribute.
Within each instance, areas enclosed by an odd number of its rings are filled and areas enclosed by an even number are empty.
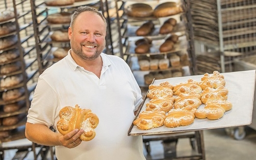
<svg viewBox="0 0 256 160"><path fill-rule="evenodd" d="M47 17L47 21L53 24L62 24L71 22L71 13L54 13Z"/></svg>

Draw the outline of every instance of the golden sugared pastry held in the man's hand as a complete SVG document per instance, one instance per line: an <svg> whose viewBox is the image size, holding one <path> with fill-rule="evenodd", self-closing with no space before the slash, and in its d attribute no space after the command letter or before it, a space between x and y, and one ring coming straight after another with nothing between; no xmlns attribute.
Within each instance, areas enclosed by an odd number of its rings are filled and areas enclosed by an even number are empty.
<svg viewBox="0 0 256 160"><path fill-rule="evenodd" d="M78 105L75 108L66 106L60 110L59 117L57 129L62 135L74 129L83 129L84 133L79 137L81 140L89 141L96 136L94 129L99 124L99 118L90 109L81 109Z"/></svg>

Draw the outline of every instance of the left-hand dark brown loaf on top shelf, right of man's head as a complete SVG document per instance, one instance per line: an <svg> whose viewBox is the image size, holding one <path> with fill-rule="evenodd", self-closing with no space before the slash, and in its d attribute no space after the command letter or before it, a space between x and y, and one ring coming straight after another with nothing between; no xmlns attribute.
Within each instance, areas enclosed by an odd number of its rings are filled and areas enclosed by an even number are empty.
<svg viewBox="0 0 256 160"><path fill-rule="evenodd" d="M127 15L130 17L151 17L153 16L153 8L149 4L135 3L131 4L126 9Z"/></svg>

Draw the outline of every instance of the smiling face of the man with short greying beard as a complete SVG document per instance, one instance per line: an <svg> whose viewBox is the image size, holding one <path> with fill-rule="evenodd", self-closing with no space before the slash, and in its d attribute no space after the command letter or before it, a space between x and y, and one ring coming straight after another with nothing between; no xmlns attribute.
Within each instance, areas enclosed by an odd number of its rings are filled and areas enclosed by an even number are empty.
<svg viewBox="0 0 256 160"><path fill-rule="evenodd" d="M94 60L105 47L106 26L99 15L83 12L69 28L72 51L83 60Z"/></svg>

